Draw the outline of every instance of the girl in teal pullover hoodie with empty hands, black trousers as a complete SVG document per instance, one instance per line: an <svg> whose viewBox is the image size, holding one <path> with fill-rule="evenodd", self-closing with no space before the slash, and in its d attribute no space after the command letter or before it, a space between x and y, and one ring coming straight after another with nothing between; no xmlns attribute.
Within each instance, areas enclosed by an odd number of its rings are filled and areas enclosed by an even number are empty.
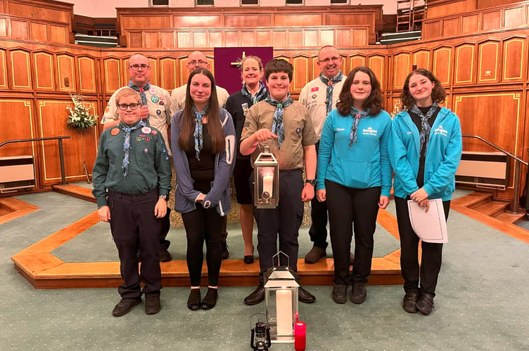
<svg viewBox="0 0 529 351"><path fill-rule="evenodd" d="M382 110L380 83L368 67L350 72L319 142L316 196L327 201L334 260L333 300L363 303L371 274L378 208L389 204L391 118ZM355 261L349 273L352 227Z"/></svg>

